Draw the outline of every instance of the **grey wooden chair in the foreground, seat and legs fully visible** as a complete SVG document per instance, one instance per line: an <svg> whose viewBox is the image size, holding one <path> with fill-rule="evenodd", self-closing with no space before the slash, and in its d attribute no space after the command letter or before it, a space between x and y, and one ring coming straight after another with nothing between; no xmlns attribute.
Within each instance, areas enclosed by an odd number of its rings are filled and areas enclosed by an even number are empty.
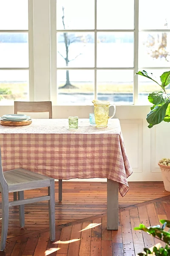
<svg viewBox="0 0 170 256"><path fill-rule="evenodd" d="M48 187L48 195L35 198L24 199L24 190L40 187ZM55 239L55 186L54 178L34 173L22 168L6 171L3 173L1 151L0 151L0 191L2 195L2 231L0 250L6 246L8 233L8 213L9 206L19 205L20 226L24 227L24 204L48 200L50 239ZM8 193L18 192L17 201L8 201Z"/></svg>

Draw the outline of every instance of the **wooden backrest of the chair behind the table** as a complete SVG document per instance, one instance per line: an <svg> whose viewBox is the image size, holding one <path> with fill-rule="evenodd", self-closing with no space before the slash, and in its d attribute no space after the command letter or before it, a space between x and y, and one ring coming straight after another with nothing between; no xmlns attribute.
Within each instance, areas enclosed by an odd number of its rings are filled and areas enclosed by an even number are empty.
<svg viewBox="0 0 170 256"><path fill-rule="evenodd" d="M52 118L51 101L14 101L14 114L17 112L49 112L49 118Z"/></svg>

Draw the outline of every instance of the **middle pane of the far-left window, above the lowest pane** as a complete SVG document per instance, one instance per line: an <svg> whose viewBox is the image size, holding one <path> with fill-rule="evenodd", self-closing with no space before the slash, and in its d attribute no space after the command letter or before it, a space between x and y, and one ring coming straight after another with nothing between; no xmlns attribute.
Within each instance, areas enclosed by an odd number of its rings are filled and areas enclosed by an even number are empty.
<svg viewBox="0 0 170 256"><path fill-rule="evenodd" d="M0 67L28 68L28 33L0 33Z"/></svg>

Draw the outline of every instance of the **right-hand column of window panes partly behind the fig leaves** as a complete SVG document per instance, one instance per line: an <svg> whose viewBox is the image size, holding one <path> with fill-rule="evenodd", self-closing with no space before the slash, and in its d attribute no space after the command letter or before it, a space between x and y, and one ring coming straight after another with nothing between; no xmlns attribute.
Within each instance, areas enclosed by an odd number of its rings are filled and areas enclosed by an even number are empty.
<svg viewBox="0 0 170 256"><path fill-rule="evenodd" d="M164 13L161 6L166 6ZM170 1L162 0L161 6L159 1L139 0L139 69L147 69L157 77L170 70ZM148 92L160 91L160 86L142 77L138 80L138 102L147 104Z"/></svg>

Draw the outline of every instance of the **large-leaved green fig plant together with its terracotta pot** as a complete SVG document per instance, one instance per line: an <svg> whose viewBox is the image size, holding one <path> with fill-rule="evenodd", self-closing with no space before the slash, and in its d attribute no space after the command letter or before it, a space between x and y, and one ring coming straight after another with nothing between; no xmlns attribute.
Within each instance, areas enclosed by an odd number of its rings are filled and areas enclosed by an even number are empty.
<svg viewBox="0 0 170 256"><path fill-rule="evenodd" d="M159 92L152 92L148 95L148 101L153 104L146 117L149 123L148 127L152 128L162 121L170 122L170 95L165 90L165 87L170 84L170 71L164 72L160 76L160 81L152 73L147 73L145 70L136 72L136 75L149 78L161 87ZM161 169L165 190L170 191L170 159L162 158L158 164Z"/></svg>

